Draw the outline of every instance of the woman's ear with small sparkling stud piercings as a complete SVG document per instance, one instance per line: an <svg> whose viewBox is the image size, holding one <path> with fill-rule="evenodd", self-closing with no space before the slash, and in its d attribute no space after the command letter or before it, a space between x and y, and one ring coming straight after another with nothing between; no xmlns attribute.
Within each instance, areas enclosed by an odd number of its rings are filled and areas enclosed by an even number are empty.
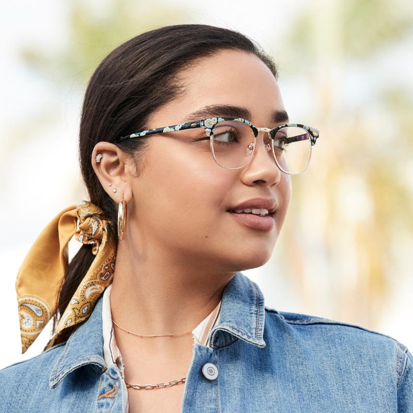
<svg viewBox="0 0 413 413"><path fill-rule="evenodd" d="M96 161L96 156L100 161ZM93 148L92 166L106 193L117 203L132 200L133 174L127 156L113 143L99 142ZM110 186L109 186L110 184Z"/></svg>

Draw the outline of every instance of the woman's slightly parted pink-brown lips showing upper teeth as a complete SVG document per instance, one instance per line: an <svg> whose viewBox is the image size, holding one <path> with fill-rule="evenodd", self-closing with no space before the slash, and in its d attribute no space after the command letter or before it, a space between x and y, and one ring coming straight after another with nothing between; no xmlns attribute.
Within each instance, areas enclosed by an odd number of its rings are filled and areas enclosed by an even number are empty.
<svg viewBox="0 0 413 413"><path fill-rule="evenodd" d="M278 207L274 198L254 198L232 206L227 211L238 223L261 231L270 231L275 225L273 214Z"/></svg>

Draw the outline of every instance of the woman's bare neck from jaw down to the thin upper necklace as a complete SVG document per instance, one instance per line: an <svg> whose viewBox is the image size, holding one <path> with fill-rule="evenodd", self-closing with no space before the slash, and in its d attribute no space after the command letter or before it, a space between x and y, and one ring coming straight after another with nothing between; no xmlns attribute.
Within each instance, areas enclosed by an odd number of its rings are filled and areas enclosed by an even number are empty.
<svg viewBox="0 0 413 413"><path fill-rule="evenodd" d="M110 301L113 320L138 334L195 328L219 304L235 275L176 250L137 251L131 242L120 241Z"/></svg>

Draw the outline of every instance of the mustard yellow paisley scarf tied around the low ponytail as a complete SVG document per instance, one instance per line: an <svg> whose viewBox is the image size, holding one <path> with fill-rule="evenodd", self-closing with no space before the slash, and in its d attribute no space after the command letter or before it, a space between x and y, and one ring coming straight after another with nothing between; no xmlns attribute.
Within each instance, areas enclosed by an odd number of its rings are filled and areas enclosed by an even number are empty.
<svg viewBox="0 0 413 413"><path fill-rule="evenodd" d="M73 235L78 241L93 245L96 258L65 312L60 314L46 348L64 341L74 326L89 317L112 282L115 270L116 246L107 231L110 223L101 208L83 201L58 214L34 242L16 280L22 353L52 318L60 282L69 265L68 243Z"/></svg>

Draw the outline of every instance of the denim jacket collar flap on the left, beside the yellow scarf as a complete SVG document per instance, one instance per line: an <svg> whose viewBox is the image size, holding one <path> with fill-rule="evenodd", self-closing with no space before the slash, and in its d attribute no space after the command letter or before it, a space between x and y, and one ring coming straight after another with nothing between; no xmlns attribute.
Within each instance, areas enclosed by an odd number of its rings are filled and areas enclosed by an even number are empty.
<svg viewBox="0 0 413 413"><path fill-rule="evenodd" d="M92 364L102 373L107 368L103 360L102 298L88 320L70 335L62 356L53 367L50 387L56 387L67 374L85 364Z"/></svg>

